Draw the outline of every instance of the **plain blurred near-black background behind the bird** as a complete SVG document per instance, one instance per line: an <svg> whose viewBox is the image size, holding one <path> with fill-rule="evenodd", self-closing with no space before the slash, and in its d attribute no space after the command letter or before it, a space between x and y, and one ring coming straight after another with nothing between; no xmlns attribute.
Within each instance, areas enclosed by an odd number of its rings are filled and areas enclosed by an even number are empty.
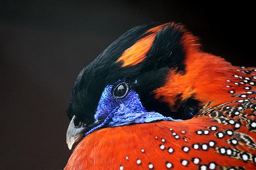
<svg viewBox="0 0 256 170"><path fill-rule="evenodd" d="M134 26L183 23L204 51L256 66L254 5L214 2L0 1L0 169L64 168L76 77Z"/></svg>

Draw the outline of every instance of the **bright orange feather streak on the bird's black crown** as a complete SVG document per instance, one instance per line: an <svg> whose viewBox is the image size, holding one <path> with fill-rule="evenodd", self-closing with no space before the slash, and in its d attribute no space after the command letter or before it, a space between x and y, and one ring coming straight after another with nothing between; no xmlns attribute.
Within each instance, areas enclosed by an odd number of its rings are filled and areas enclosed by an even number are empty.
<svg viewBox="0 0 256 170"><path fill-rule="evenodd" d="M163 26L169 25L171 23L166 23L161 26L157 26L154 28L149 29L144 34L152 32L152 34L138 40L134 45L132 45L130 48L126 49L122 56L119 57L119 59L116 62L122 61L122 67L128 66L128 65L137 65L140 62L143 62L143 60L146 58L146 54L148 50L151 48L154 37L157 34L158 31L160 31Z"/></svg>

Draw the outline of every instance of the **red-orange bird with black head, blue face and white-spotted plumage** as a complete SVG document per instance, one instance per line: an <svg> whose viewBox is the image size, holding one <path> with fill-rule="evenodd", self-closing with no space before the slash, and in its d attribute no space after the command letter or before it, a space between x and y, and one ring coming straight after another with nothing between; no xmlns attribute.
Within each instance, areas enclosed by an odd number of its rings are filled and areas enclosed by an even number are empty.
<svg viewBox="0 0 256 170"><path fill-rule="evenodd" d="M64 170L255 170L256 68L202 50L181 23L125 32L85 67Z"/></svg>

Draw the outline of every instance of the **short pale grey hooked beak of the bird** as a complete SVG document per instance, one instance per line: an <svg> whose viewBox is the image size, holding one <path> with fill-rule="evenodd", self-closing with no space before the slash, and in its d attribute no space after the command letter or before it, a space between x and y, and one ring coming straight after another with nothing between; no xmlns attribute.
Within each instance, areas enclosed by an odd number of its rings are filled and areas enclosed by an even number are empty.
<svg viewBox="0 0 256 170"><path fill-rule="evenodd" d="M75 119L76 119L76 116L74 115L67 128L67 134L66 134L66 142L70 150L73 144L77 142L82 136L84 136L84 130L85 130L85 127L83 127L83 125L81 125L80 127L75 126L74 124Z"/></svg>

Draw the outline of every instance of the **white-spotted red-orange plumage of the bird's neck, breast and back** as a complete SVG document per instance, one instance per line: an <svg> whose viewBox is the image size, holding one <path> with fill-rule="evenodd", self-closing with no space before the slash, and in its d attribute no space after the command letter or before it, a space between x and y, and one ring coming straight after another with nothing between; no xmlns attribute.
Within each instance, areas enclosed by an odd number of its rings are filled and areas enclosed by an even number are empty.
<svg viewBox="0 0 256 170"><path fill-rule="evenodd" d="M190 33L182 43L186 72L171 69L166 83L154 90L155 99L177 111L193 96L200 101L198 113L180 122L96 130L77 145L65 170L256 169L256 68L204 53Z"/></svg>

